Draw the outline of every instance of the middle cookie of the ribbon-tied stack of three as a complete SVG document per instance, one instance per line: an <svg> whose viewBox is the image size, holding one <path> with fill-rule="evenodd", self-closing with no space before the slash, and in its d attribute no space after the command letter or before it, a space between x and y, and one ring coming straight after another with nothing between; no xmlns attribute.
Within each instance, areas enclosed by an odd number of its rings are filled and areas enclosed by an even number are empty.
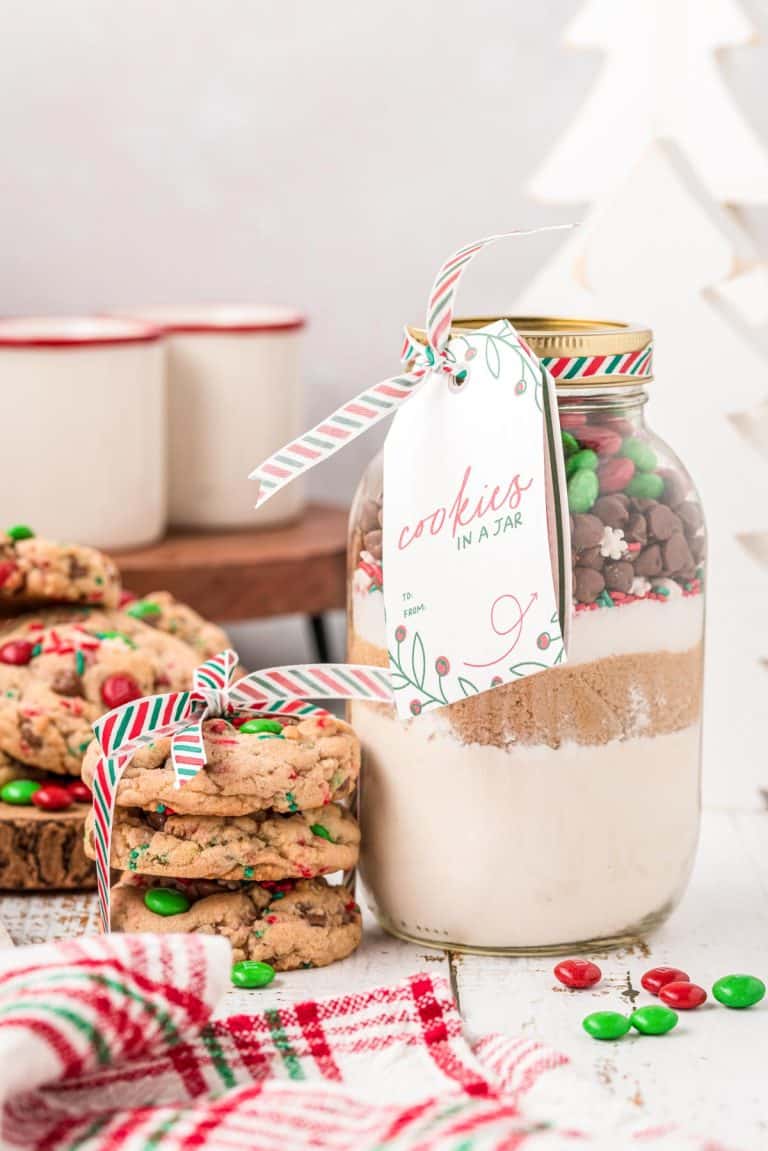
<svg viewBox="0 0 768 1151"><path fill-rule="evenodd" d="M185 785L184 785L185 786ZM180 879L313 878L357 863L360 833L344 808L329 803L295 815L176 815L117 808L113 867ZM93 815L85 851L96 859Z"/></svg>

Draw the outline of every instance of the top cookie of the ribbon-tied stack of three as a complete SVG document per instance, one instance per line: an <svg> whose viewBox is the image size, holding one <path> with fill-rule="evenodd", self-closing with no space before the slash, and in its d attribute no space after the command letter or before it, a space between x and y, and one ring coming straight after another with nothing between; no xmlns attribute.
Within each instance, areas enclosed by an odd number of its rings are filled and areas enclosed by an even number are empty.
<svg viewBox="0 0 768 1151"><path fill-rule="evenodd" d="M276 732L253 731L259 722L207 719L206 765L175 787L170 740L140 748L120 783L117 805L180 815L239 816L272 808L304 811L343 799L355 788L360 745L352 729L333 716L281 722ZM83 779L92 786L99 753L89 747Z"/></svg>

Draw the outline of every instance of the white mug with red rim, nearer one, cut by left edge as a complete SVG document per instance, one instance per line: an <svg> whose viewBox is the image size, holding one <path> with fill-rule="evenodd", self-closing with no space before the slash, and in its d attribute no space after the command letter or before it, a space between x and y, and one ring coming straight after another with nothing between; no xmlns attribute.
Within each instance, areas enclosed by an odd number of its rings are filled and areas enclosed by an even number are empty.
<svg viewBox="0 0 768 1151"><path fill-rule="evenodd" d="M0 525L101 548L166 527L164 348L147 323L0 319Z"/></svg>

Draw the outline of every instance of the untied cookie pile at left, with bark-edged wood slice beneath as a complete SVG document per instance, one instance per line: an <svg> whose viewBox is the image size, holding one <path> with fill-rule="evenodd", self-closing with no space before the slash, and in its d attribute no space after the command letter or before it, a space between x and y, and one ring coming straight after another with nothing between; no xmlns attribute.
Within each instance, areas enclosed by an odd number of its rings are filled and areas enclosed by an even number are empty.
<svg viewBox="0 0 768 1151"><path fill-rule="evenodd" d="M0 534L0 889L93 886L81 782L91 724L191 686L226 634L168 593L136 600L93 548Z"/></svg>

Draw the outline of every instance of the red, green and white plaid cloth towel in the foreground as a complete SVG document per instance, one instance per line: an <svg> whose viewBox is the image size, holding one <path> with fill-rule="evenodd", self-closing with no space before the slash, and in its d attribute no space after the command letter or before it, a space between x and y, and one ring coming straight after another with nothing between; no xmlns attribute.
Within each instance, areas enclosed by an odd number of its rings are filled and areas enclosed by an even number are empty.
<svg viewBox="0 0 768 1151"><path fill-rule="evenodd" d="M229 967L206 936L0 952L2 1148L715 1151L538 1042L471 1046L442 978L214 1020Z"/></svg>

